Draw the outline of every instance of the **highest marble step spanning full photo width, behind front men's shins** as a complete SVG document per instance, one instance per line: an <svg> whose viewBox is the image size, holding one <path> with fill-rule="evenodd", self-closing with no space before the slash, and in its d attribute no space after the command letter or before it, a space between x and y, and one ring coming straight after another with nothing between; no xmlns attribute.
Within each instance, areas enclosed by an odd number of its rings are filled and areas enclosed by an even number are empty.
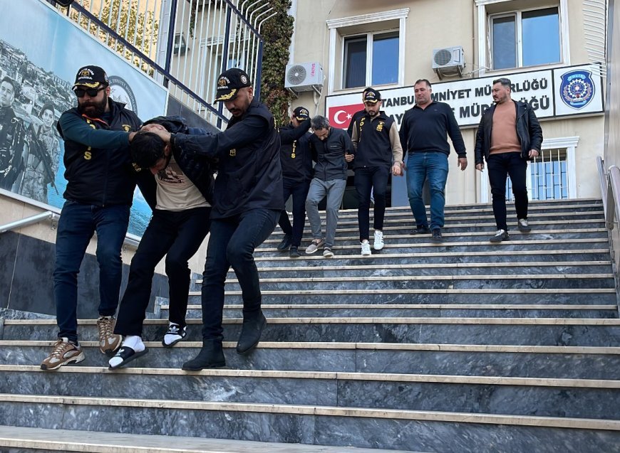
<svg viewBox="0 0 620 453"><path fill-rule="evenodd" d="M531 346L616 346L620 319L569 318L269 318L262 341L457 343ZM160 341L165 319L146 319L143 339ZM200 319L187 319L187 340L202 339ZM224 339L236 340L242 319L224 319ZM51 319L6 319L3 340L50 340ZM98 339L96 320L78 320L81 341Z"/></svg>

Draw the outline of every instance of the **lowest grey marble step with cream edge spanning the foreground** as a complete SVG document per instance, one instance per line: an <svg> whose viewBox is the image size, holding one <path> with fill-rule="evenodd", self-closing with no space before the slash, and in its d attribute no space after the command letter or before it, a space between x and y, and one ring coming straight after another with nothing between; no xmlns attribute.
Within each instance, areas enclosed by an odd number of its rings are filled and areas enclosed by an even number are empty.
<svg viewBox="0 0 620 453"><path fill-rule="evenodd" d="M619 420L20 394L0 402L0 424L54 430L432 452L616 452L620 444Z"/></svg>

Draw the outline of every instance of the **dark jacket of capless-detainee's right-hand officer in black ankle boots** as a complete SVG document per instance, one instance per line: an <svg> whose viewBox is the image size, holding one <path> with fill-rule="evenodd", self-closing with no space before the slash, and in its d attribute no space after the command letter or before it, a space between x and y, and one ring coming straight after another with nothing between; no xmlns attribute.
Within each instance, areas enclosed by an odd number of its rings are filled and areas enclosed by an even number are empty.
<svg viewBox="0 0 620 453"><path fill-rule="evenodd" d="M218 159L211 218L255 208L284 209L280 136L273 115L256 97L224 132L175 134L170 142L174 149Z"/></svg>

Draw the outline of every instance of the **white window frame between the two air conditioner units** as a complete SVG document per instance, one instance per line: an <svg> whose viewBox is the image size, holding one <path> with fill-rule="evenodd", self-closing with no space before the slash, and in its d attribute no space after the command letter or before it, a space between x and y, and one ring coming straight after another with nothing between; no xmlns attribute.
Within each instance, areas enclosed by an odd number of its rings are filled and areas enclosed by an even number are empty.
<svg viewBox="0 0 620 453"><path fill-rule="evenodd" d="M382 87L398 87L402 86L405 83L405 20L409 14L409 8L403 9L393 9L390 11L381 11L373 14L362 14L360 16L349 16L337 19L330 19L326 21L327 27L329 28L329 68L327 70L328 74L328 84L327 84L327 94L332 95L336 91L347 90L349 92L354 92L359 90L360 87L353 88L345 88L344 87L344 46L345 46L345 38L350 38L353 36L366 36L366 68L370 65L370 73L368 69L366 70L366 80L371 78L372 75L372 49L370 53L368 53L368 45L372 46L372 41L368 40L368 35L373 34L383 34L383 33L393 33L398 32L398 80L397 82L381 85ZM394 21L398 20L398 28L390 25L382 30L377 31L368 31L368 32L358 32L358 33L347 33L346 28L351 26L364 26L371 25L381 22ZM368 58L370 55L370 58ZM336 70L336 56L340 58L340 70ZM336 80L336 73L338 73L339 80ZM368 85L366 85L368 86Z"/></svg>

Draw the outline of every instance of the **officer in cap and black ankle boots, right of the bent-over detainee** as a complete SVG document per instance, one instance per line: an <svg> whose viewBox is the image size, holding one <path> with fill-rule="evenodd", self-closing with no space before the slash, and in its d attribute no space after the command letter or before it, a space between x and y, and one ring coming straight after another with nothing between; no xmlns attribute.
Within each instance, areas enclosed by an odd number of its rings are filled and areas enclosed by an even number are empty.
<svg viewBox="0 0 620 453"><path fill-rule="evenodd" d="M254 97L244 71L232 68L217 78L216 102L232 114L224 132L212 136L153 131L172 149L218 159L211 210L211 235L202 275L202 349L185 364L188 371L225 365L222 350L224 282L232 266L243 299L243 326L237 353L254 349L267 325L254 249L273 232L281 210L280 137L273 115Z"/></svg>

